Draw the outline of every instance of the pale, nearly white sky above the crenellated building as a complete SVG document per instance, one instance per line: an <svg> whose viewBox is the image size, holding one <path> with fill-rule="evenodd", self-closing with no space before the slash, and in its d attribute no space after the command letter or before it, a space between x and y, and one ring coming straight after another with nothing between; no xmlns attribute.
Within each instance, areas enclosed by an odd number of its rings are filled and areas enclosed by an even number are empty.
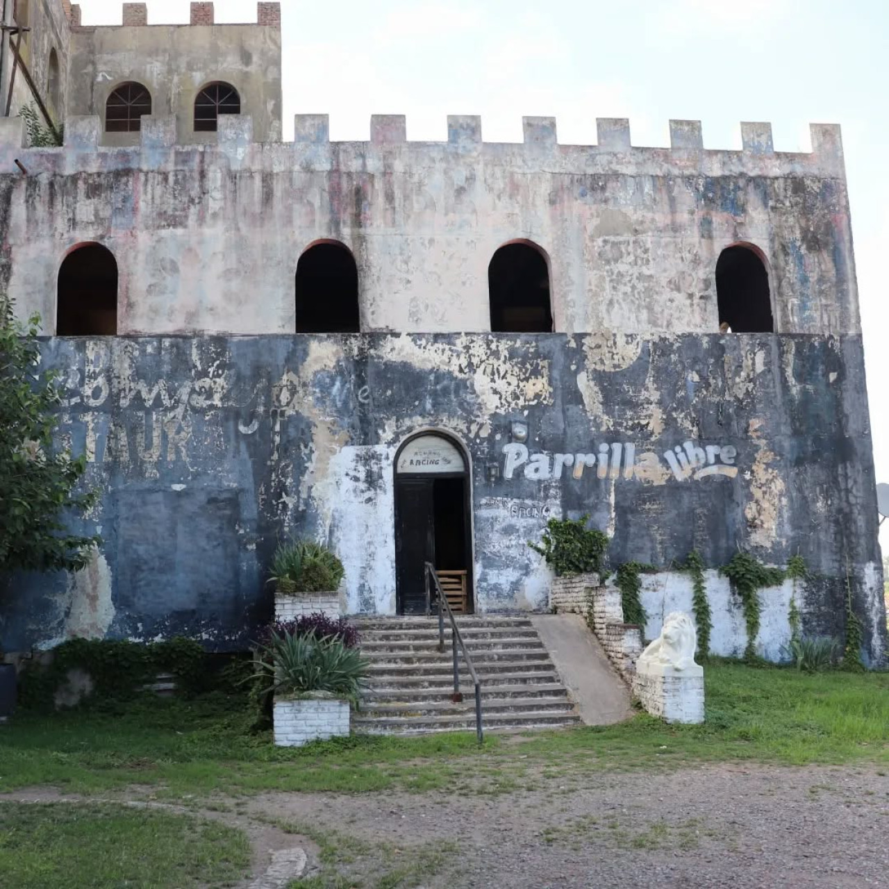
<svg viewBox="0 0 889 889"><path fill-rule="evenodd" d="M84 25L120 24L117 0L80 0ZM329 114L333 140L366 140L372 114L445 140L448 114L482 116L486 141L521 141L522 116L557 118L560 142L596 141L629 117L634 145L668 146L669 118L703 123L706 148L741 148L771 121L779 151L808 124L842 124L877 481L889 482L889 4L879 0L284 0L284 139L297 113ZM187 22L187 0L148 21ZM216 0L216 21L255 21ZM885 525L889 526L889 522ZM884 547L889 536L884 534Z"/></svg>

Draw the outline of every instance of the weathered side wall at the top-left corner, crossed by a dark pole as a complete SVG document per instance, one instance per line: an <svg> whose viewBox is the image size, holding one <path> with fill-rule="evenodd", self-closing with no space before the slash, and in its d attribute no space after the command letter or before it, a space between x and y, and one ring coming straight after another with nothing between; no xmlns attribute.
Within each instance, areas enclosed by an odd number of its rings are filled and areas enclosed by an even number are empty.
<svg viewBox="0 0 889 889"><path fill-rule="evenodd" d="M2 4L0 4L2 8ZM12 2L8 3L7 17L12 17ZM68 16L60 0L30 0L28 3L27 27L31 30L22 36L21 58L25 62L41 100L49 110L53 120L60 124L65 118L68 103L68 46L70 27ZM12 76L12 52L8 46L8 35L4 34L3 71L0 73L0 96L3 97L3 108L6 107L6 96ZM16 39L15 37L12 38ZM50 54L55 50L59 60L58 100L53 101L49 89ZM21 68L15 75L12 88L12 105L10 115L15 116L23 105L33 104L37 108L34 92ZM39 114L39 111L38 111Z"/></svg>

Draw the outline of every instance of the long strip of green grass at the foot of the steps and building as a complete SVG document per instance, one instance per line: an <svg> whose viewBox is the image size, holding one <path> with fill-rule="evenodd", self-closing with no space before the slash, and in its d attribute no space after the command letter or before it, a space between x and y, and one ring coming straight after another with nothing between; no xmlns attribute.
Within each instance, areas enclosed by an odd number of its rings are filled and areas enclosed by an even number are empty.
<svg viewBox="0 0 889 889"><path fill-rule="evenodd" d="M52 715L20 712L0 728L0 792L51 785L82 794L148 785L159 799L266 790L503 793L550 777L725 760L889 766L889 674L705 670L707 723L645 714L621 725L520 737L356 737L280 749L251 734L241 699L142 699ZM435 768L430 764L434 762ZM2 872L2 871L0 871Z"/></svg>

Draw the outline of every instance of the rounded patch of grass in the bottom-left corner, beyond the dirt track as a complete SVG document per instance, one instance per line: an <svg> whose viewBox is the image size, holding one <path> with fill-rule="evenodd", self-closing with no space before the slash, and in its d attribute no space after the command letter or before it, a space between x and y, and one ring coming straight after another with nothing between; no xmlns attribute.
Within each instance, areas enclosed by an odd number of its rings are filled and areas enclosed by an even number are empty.
<svg viewBox="0 0 889 889"><path fill-rule="evenodd" d="M240 830L124 805L0 805L0 882L16 889L230 885L250 864Z"/></svg>

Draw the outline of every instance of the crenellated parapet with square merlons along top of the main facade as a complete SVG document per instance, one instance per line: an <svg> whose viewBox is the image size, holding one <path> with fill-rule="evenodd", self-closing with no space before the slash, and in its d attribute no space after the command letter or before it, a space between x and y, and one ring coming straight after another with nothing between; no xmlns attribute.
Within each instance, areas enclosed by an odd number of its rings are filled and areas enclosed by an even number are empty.
<svg viewBox="0 0 889 889"><path fill-rule="evenodd" d="M845 180L843 142L837 124L810 124L811 152L775 151L772 126L764 123L741 124L740 151L704 148L700 121L671 120L670 148L634 146L629 122L623 118L598 118L598 143L587 146L560 144L553 117L525 117L523 124L524 142L484 142L480 117L448 116L446 141L409 141L404 116L373 115L368 141L331 142L327 115L297 115L292 142L260 143L252 141L251 116L227 115L220 117L215 140L208 142L215 141L219 150L236 144L238 165L257 168L265 164L279 166L285 162L286 153L292 153L294 165L327 169L335 150L344 170L354 156L356 169L372 171L390 164L393 152L404 153L405 163L417 166L453 152L480 156L485 163L550 172L771 178L812 175ZM168 167L173 149L182 162L186 161L183 152L214 150L212 144L177 145L175 118L164 116L143 118L140 145L131 148L101 146L100 118L91 116L69 116L64 148L23 148L23 139L19 118L0 119L0 173L15 172L12 154L28 156L25 165L35 172L59 172L60 161L56 158L65 156L61 167L73 172L101 170L109 163L116 169ZM95 155L92 159L91 154Z"/></svg>

